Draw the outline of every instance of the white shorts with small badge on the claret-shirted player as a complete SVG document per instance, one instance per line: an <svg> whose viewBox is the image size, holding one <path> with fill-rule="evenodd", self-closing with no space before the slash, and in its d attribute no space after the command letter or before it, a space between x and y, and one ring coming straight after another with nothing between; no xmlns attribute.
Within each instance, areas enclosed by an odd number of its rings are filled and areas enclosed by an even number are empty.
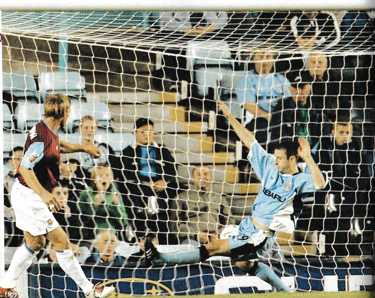
<svg viewBox="0 0 375 298"><path fill-rule="evenodd" d="M10 200L19 229L37 236L58 227L59 224L48 206L33 190L23 186L18 180L13 184Z"/></svg>

